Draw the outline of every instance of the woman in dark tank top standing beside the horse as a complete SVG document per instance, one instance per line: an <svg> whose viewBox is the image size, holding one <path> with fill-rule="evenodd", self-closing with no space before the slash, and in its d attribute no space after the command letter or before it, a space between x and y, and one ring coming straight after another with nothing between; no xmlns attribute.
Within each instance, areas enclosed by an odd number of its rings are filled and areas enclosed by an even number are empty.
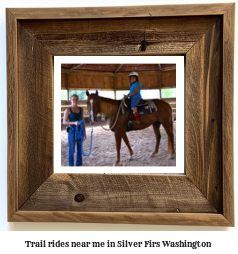
<svg viewBox="0 0 238 254"><path fill-rule="evenodd" d="M86 131L85 131L85 123L80 124L79 121L84 120L83 109L78 107L78 95L74 94L70 98L71 107L67 108L64 112L63 124L67 126L68 132L68 144L69 144L69 152L68 152L68 160L69 166L74 166L74 153L75 153L75 144L77 145L77 153L76 153L76 166L82 166L82 152L81 152L81 139L78 141L75 140L75 131L76 126L78 128L84 128L84 140L86 139Z"/></svg>

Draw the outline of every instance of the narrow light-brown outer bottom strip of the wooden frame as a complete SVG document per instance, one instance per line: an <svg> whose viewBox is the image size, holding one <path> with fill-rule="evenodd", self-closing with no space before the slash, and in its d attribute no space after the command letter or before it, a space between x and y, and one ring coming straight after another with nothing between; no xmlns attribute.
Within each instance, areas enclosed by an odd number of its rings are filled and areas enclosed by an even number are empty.
<svg viewBox="0 0 238 254"><path fill-rule="evenodd" d="M18 211L12 221L232 226L223 215L212 213Z"/></svg>

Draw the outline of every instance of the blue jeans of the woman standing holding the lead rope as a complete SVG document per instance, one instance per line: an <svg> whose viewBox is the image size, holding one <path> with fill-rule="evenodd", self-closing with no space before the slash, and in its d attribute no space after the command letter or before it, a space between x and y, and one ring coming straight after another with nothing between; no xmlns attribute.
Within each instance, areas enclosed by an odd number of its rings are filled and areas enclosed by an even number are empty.
<svg viewBox="0 0 238 254"><path fill-rule="evenodd" d="M81 140L75 141L74 130L69 130L68 132L68 143L69 143L69 153L68 153L69 166L74 166L75 143L77 146L75 166L82 166L83 159L82 159L82 153L81 153Z"/></svg>

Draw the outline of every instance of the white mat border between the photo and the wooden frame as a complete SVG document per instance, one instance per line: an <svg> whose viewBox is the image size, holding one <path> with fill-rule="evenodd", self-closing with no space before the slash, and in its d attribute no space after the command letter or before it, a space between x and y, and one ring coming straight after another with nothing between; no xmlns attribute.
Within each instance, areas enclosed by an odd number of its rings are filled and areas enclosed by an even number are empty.
<svg viewBox="0 0 238 254"><path fill-rule="evenodd" d="M173 63L176 64L176 166L61 167L61 63ZM184 57L183 56L56 56L54 57L54 172L55 173L168 173L184 174ZM129 86L128 86L129 87ZM143 87L143 84L142 84ZM129 88L128 88L129 89ZM129 90L128 90L129 91ZM152 97L154 98L154 97ZM91 128L91 127L90 127ZM93 146L92 146L93 149ZM129 153L128 153L129 155ZM83 158L87 159L87 158ZM113 162L112 162L113 164Z"/></svg>

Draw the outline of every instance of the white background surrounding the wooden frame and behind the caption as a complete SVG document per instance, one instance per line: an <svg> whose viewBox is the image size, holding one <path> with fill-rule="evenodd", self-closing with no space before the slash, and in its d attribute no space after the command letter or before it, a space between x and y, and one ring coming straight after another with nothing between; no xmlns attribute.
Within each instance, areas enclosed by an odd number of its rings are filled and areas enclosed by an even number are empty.
<svg viewBox="0 0 238 254"><path fill-rule="evenodd" d="M213 246L212 250L209 249L197 249L193 250L196 253L212 253L214 251L223 251L227 249L232 250L231 253L236 253L238 247L236 246L236 241L238 239L238 227L233 228L224 228L224 227L189 227L189 226L158 226L158 225L123 225L123 224L91 224L91 223L7 223L7 97L6 97L6 22L5 22L5 8L6 7L83 7L83 6L125 6L125 5L156 5L156 4L191 4L191 3L224 3L224 2L236 2L236 1L133 1L133 0L120 0L120 1L76 1L76 0L1 0L0 3L0 38L1 38L1 48L0 48L0 109L1 109L1 124L0 124L0 246L4 250L3 253L10 253L10 251L25 251L32 253L42 252L42 249L26 249L24 245L25 240L59 240L67 241L67 239L77 238L87 239L89 241L100 241L115 239L145 239L151 238L153 240L205 240L212 241ZM236 10L236 14L237 14ZM236 37L237 37L237 21L236 21ZM237 47L236 47L237 49ZM237 50L235 51L235 69L237 70ZM237 104L237 73L235 72L235 126L234 126L234 152L235 152L235 194L236 194L236 215L237 215L237 165L238 165L238 156L237 156L237 124L238 124L238 104ZM236 220L237 223L237 220ZM59 232L42 232L55 230ZM78 231L78 232L61 232L61 231ZM8 232L4 232L8 231ZM23 232L13 232L13 231L23 231ZM35 231L35 232L29 232ZM95 231L95 232L80 232L80 231ZM96 231L105 231L102 233ZM115 232L106 232L106 231L115 231ZM122 232L125 231L125 232ZM128 231L138 231L138 232L128 232ZM150 232L143 232L150 231ZM164 232L169 231L169 232ZM176 232L181 231L181 232ZM192 232L187 232L192 231ZM213 232L209 232L213 231ZM214 232L218 231L218 232ZM229 231L229 232L226 232ZM146 239L145 239L146 240ZM89 249L90 250L90 249ZM88 250L88 251L89 251ZM110 249L108 249L111 251ZM150 249L150 252L158 253L170 253L172 251L176 253L190 253L190 249ZM46 251L46 250L44 250ZM48 250L47 250L48 251ZM65 253L65 250L62 249L51 249L51 252L57 251L57 253ZM83 252L81 249L67 250L74 251L75 253ZM91 250L90 250L91 251ZM104 249L98 250L106 252ZM115 252L121 251L130 251L130 249L116 249ZM133 252L144 253L144 249L132 249ZM87 252L85 249L84 252ZM149 249L147 250L149 252Z"/></svg>

